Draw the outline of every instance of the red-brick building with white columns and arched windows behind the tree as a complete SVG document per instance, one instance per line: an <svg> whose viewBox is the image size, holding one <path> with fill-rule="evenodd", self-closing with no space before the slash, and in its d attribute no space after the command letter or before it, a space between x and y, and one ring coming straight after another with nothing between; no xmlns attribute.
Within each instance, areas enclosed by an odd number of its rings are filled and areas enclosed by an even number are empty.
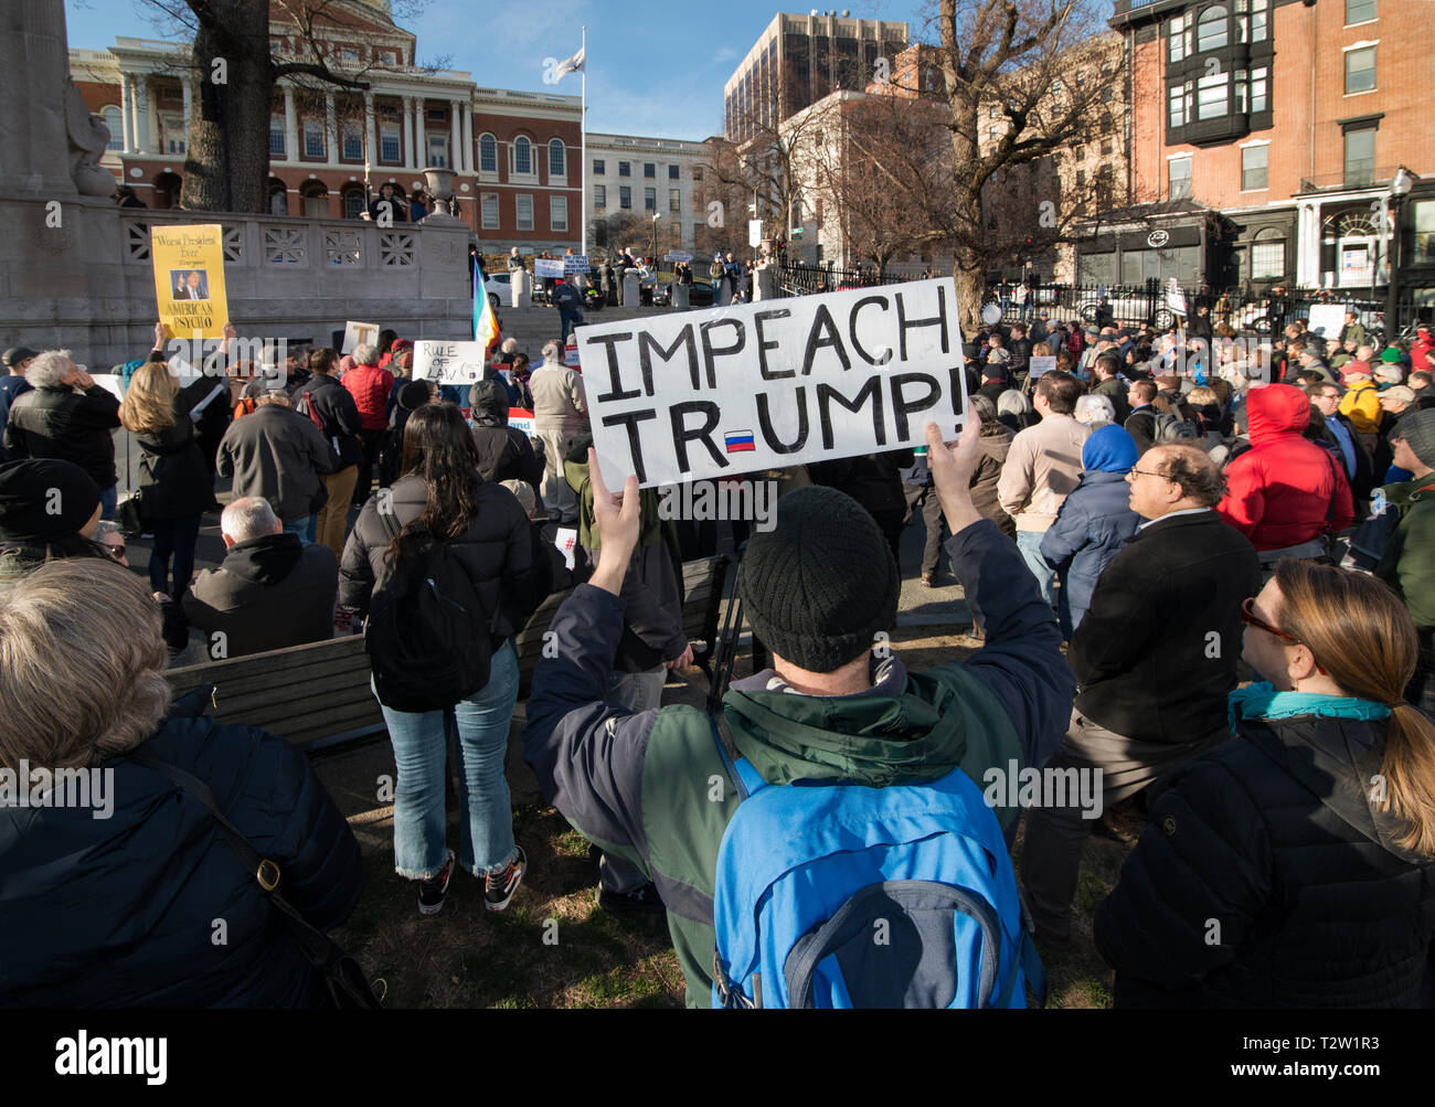
<svg viewBox="0 0 1435 1107"><path fill-rule="evenodd" d="M486 250L580 244L580 100L478 87L472 76L420 66L418 40L387 0L342 0L316 30L329 66L370 87L350 92L280 79L270 123L270 211L357 218L385 182L423 186L426 166L455 172L458 214ZM303 56L296 24L274 13L270 49ZM70 50L70 72L110 143L102 165L151 208L179 202L188 125L198 109L188 47L116 39Z"/></svg>

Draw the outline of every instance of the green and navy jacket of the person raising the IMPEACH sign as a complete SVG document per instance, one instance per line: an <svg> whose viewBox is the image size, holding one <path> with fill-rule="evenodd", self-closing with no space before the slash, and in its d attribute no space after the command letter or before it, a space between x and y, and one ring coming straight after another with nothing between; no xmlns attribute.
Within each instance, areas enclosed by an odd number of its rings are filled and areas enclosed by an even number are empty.
<svg viewBox="0 0 1435 1107"><path fill-rule="evenodd" d="M897 657L874 660L874 687L842 697L769 688L771 671L738 681L723 713L763 780L884 787L960 766L983 787L986 770L1040 764L1056 750L1075 680L1050 607L992 522L967 526L947 551L984 615L986 648L923 674ZM603 701L623 617L623 601L591 585L564 601L550 627L557 648L534 675L524 757L578 832L657 885L687 1004L707 1007L718 850L738 789L703 711L670 705L634 716ZM1017 814L996 813L1003 826Z"/></svg>

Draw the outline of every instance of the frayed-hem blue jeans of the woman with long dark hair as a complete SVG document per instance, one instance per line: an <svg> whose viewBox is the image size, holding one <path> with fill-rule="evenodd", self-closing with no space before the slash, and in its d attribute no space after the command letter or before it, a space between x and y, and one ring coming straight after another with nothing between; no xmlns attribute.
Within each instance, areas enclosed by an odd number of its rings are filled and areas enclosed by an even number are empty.
<svg viewBox="0 0 1435 1107"><path fill-rule="evenodd" d="M508 723L518 701L518 650L494 652L488 684L446 711L383 707L399 780L393 794L393 868L428 879L443 868L443 792L449 734L458 733L459 849L468 872L484 876L514 859L514 810L504 777Z"/></svg>

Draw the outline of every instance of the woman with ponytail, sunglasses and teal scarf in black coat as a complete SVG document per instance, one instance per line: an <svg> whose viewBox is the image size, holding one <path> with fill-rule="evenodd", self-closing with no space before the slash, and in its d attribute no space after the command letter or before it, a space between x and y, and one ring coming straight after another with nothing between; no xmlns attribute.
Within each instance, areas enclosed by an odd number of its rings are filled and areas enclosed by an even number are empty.
<svg viewBox="0 0 1435 1107"><path fill-rule="evenodd" d="M1435 724L1380 581L1281 559L1246 601L1234 741L1175 773L1098 908L1132 1007L1428 1007Z"/></svg>

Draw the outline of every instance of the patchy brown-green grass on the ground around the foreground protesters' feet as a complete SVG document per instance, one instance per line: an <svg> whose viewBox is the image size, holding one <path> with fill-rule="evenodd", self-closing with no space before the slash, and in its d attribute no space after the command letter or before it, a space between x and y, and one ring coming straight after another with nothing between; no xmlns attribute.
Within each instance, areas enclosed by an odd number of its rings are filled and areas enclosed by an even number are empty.
<svg viewBox="0 0 1435 1107"><path fill-rule="evenodd" d="M977 644L924 627L894 632L893 645L920 671L961 660ZM739 673L746 671L748 662L739 660ZM514 832L528 853L528 873L508 911L498 913L484 909L478 880L455 872L443 911L420 916L416 886L393 873L392 822L376 823L373 830L382 845L364 850L364 896L336 938L370 979L382 981L376 991L386 1007L683 1005L683 974L666 922L598 911L588 843L552 807L515 809ZM451 816L449 843L455 842ZM1019 870L1020 852L1019 837ZM1042 951L1048 1005L1111 1005L1111 971L1091 942L1091 918L1115 885L1126 852L1111 839L1088 842L1072 945L1065 952Z"/></svg>

